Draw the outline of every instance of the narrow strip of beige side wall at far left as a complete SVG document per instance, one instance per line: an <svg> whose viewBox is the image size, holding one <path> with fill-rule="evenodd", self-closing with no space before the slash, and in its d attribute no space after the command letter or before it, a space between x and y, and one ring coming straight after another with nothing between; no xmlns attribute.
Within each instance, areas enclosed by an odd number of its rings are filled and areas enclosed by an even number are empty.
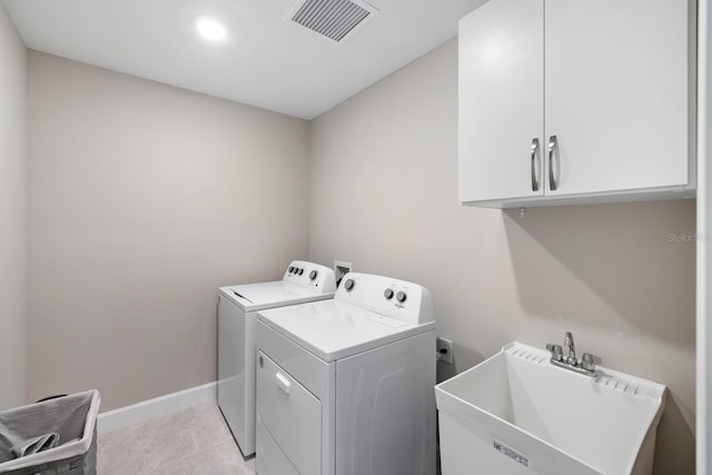
<svg viewBox="0 0 712 475"><path fill-rule="evenodd" d="M0 410L24 404L27 50L0 3Z"/></svg>

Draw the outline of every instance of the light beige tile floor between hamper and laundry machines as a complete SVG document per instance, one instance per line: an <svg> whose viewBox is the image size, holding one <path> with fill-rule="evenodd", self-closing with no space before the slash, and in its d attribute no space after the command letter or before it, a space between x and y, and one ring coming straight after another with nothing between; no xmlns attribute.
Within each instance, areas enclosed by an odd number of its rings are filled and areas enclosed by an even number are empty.
<svg viewBox="0 0 712 475"><path fill-rule="evenodd" d="M99 435L98 475L255 475L215 405Z"/></svg>

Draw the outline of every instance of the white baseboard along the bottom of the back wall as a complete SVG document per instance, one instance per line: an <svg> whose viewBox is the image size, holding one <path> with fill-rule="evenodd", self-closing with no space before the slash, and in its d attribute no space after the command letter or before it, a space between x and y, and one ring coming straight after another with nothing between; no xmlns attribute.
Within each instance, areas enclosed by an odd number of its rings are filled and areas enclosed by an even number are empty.
<svg viewBox="0 0 712 475"><path fill-rule="evenodd" d="M97 433L106 434L176 410L209 403L217 403L217 383L215 382L101 413L97 417Z"/></svg>

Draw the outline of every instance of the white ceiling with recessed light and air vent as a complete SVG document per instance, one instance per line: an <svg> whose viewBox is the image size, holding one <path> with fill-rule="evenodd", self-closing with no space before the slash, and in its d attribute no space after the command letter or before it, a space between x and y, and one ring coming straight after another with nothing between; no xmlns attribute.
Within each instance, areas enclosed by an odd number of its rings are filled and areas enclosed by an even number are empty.
<svg viewBox="0 0 712 475"><path fill-rule="evenodd" d="M285 20L296 0L2 0L28 48L312 119L457 33L486 0L368 0L336 43ZM228 37L198 36L210 14Z"/></svg>

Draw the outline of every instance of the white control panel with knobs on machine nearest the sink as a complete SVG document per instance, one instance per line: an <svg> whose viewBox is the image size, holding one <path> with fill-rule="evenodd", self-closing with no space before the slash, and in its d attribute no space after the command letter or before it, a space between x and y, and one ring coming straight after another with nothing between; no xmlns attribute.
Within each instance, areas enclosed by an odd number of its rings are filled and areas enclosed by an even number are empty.
<svg viewBox="0 0 712 475"><path fill-rule="evenodd" d="M349 273L334 299L413 325L435 320L433 299L425 287L390 277Z"/></svg>

